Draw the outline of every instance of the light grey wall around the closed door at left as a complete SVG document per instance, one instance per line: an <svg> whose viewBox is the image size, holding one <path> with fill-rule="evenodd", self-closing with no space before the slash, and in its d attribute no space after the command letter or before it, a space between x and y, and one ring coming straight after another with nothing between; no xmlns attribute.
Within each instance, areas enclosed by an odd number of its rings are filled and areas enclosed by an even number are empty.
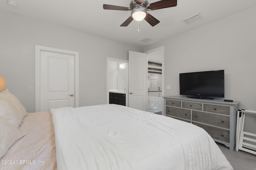
<svg viewBox="0 0 256 170"><path fill-rule="evenodd" d="M106 104L106 57L128 60L141 49L0 10L0 76L35 111L35 45L79 52L79 106Z"/></svg>

